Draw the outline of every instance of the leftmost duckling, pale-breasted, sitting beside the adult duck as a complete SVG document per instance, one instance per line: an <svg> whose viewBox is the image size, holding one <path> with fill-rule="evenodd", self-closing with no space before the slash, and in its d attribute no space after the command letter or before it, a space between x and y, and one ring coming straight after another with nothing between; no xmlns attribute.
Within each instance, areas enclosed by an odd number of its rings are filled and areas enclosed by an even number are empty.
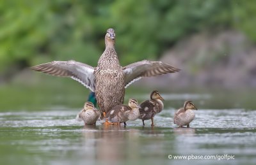
<svg viewBox="0 0 256 165"><path fill-rule="evenodd" d="M98 111L92 102L84 103L84 108L81 110L77 116L76 120L84 120L84 124L94 125L97 119L100 117L100 111Z"/></svg>

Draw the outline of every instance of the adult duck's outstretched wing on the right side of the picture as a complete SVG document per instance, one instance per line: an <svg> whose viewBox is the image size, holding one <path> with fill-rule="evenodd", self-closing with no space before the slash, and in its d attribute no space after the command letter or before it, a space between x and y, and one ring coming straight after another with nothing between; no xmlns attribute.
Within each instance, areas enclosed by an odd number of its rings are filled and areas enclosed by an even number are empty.
<svg viewBox="0 0 256 165"><path fill-rule="evenodd" d="M180 71L178 68L174 68L169 64L165 64L161 61L139 61L129 64L124 68L125 73L125 88L131 83L139 80L141 77L158 76L166 73L175 73Z"/></svg>

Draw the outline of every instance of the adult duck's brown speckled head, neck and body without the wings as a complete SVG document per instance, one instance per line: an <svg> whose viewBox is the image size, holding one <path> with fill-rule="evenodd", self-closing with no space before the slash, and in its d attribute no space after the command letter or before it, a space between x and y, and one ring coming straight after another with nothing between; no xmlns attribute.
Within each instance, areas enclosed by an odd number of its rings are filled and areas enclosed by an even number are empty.
<svg viewBox="0 0 256 165"><path fill-rule="evenodd" d="M108 35L113 35L113 39ZM97 103L101 110L108 112L113 106L124 103L124 71L115 51L115 32L108 29L105 36L106 50L100 56L95 69L95 90Z"/></svg>

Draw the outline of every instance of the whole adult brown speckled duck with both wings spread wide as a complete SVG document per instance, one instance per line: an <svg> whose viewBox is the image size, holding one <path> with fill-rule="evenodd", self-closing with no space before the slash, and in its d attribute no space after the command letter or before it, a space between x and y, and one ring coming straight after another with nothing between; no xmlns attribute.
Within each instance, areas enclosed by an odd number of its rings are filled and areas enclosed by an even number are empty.
<svg viewBox="0 0 256 165"><path fill-rule="evenodd" d="M161 61L139 61L122 67L115 51L115 31L108 29L105 36L106 49L97 67L76 61L52 61L31 69L49 75L70 77L95 92L102 117L111 108L124 103L125 88L142 77L174 73L180 69ZM102 118L101 117L101 118Z"/></svg>

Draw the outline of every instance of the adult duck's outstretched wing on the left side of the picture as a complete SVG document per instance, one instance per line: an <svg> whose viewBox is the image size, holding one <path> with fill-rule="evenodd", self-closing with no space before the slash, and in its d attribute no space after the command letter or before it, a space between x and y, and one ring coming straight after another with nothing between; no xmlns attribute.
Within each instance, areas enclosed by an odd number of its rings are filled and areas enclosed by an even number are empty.
<svg viewBox="0 0 256 165"><path fill-rule="evenodd" d="M52 61L31 67L34 71L42 71L53 76L70 77L85 87L95 91L94 68L76 61Z"/></svg>

